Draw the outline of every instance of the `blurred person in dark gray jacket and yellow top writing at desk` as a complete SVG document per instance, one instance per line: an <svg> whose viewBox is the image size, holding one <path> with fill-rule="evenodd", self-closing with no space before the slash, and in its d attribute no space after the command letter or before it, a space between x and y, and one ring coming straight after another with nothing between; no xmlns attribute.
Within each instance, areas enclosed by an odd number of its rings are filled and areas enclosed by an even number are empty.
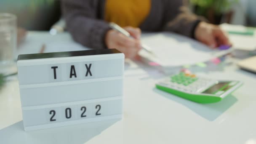
<svg viewBox="0 0 256 144"><path fill-rule="evenodd" d="M127 58L141 50L141 30L175 32L216 48L230 45L216 25L189 12L183 0L62 0L62 13L73 39L90 48L116 48ZM114 22L134 39L111 29Z"/></svg>

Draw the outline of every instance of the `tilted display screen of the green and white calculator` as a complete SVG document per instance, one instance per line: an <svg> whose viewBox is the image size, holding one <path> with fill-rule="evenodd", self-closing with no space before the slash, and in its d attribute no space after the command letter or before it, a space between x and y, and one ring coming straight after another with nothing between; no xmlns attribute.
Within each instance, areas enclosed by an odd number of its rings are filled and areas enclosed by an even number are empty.
<svg viewBox="0 0 256 144"><path fill-rule="evenodd" d="M218 91L227 91L229 88L232 87L232 85L229 85L230 82L219 82L215 85L212 85L210 88L203 91L203 93L207 94L215 94Z"/></svg>

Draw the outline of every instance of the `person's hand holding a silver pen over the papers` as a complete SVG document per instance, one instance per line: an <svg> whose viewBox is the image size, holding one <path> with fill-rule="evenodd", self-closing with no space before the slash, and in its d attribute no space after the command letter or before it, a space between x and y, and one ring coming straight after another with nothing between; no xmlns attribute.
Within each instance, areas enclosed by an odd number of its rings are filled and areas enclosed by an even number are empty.
<svg viewBox="0 0 256 144"><path fill-rule="evenodd" d="M116 48L124 53L126 58L138 59L138 53L141 50L141 30L133 27L124 27L124 29L129 32L134 39L111 29L106 34L105 43L108 48Z"/></svg>

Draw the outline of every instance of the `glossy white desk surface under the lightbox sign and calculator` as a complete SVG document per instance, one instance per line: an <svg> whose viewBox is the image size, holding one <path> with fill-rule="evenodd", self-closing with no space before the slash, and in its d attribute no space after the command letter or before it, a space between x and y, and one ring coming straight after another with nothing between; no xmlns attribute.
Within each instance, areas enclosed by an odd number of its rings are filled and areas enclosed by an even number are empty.
<svg viewBox="0 0 256 144"><path fill-rule="evenodd" d="M42 40L45 36L48 40ZM42 43L46 49L55 48L54 43L47 46L48 41L69 41L75 45L70 50L81 49L67 33L54 37L29 32L18 52L37 53ZM155 81L164 75L141 62L127 60L123 120L29 132L23 129L16 78L0 91L0 144L256 144L256 75L235 64L196 74L240 80L244 85L219 103L197 104L157 90Z"/></svg>

